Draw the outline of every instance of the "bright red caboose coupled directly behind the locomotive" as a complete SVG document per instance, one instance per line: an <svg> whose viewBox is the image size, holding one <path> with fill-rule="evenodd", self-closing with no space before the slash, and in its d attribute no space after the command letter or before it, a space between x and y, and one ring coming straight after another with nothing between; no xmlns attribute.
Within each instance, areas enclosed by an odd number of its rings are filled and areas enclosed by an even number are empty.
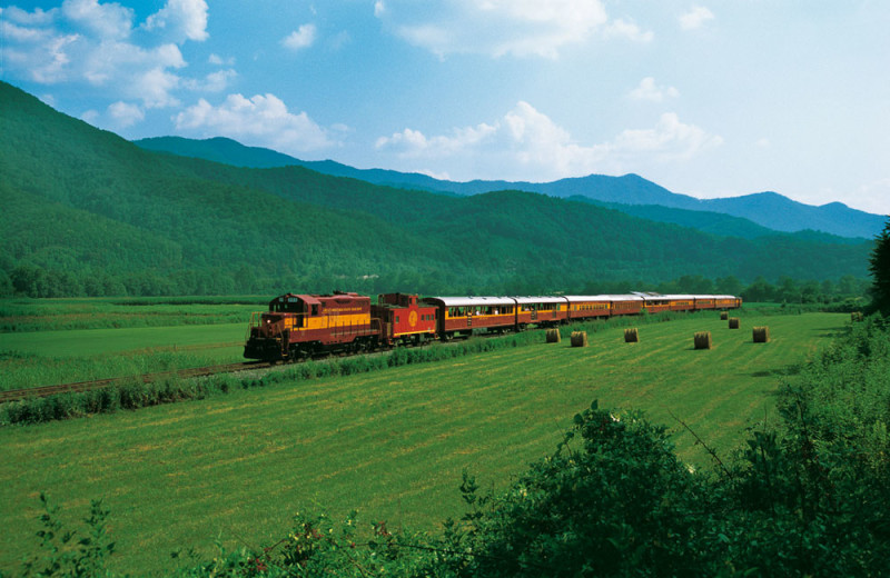
<svg viewBox="0 0 890 578"><path fill-rule="evenodd" d="M436 308L418 303L416 295L386 293L370 306L370 316L380 320L380 342L418 345L436 337Z"/></svg>

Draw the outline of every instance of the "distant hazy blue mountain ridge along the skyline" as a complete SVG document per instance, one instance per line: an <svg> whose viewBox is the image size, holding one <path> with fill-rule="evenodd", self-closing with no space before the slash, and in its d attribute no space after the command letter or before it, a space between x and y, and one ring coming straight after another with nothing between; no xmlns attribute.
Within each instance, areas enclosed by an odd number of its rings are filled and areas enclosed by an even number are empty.
<svg viewBox="0 0 890 578"><path fill-rule="evenodd" d="M138 140L136 144L150 150L215 160L236 167L300 166L325 175L349 177L375 185L416 190L479 195L495 190L515 189L540 192L551 197L586 198L612 203L612 208L630 215L639 215L639 211L624 206L645 205L688 211L722 213L746 219L760 227L783 232L814 230L839 237L872 239L880 233L884 223L884 217L882 216L851 209L840 202L813 207L793 201L775 192L759 192L743 197L702 200L671 192L664 187L637 175L625 175L623 177L590 175L587 177L560 179L553 182L511 182L500 180L454 182L418 173L403 173L382 169L356 169L330 160L303 161L268 149L245 147L225 138L191 140L179 137L159 137ZM681 217L675 211L669 218L656 216L656 212L653 209L646 211L649 218L666 222L673 222L676 219L686 222L699 222L703 218L709 218L706 216L699 216L698 218L695 216ZM746 229L753 231L753 229ZM748 237L750 235L752 232L746 232L743 236Z"/></svg>

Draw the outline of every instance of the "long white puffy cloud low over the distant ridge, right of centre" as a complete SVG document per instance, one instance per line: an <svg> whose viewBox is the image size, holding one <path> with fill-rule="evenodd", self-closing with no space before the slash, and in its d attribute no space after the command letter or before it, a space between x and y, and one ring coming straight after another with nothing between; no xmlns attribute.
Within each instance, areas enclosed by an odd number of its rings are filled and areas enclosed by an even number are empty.
<svg viewBox="0 0 890 578"><path fill-rule="evenodd" d="M473 163L488 167L497 178L508 171L512 172L508 178L536 175L558 179L596 171L634 170L644 162L685 161L721 143L719 136L668 112L653 128L624 130L611 140L584 146L545 113L520 101L491 123L433 137L404 129L377 139L376 148L412 165L409 170L423 171L418 165L427 160L436 160L439 167L452 160L458 170Z"/></svg>

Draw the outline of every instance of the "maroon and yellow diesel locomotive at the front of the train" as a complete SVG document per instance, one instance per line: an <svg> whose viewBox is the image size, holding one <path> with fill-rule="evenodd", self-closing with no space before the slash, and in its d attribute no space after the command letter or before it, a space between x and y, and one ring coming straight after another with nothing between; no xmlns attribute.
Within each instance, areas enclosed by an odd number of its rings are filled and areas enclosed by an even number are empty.
<svg viewBox="0 0 890 578"><path fill-rule="evenodd" d="M375 347L379 337L369 297L287 293L273 299L268 311L251 316L244 357L286 360L324 351L360 351Z"/></svg>

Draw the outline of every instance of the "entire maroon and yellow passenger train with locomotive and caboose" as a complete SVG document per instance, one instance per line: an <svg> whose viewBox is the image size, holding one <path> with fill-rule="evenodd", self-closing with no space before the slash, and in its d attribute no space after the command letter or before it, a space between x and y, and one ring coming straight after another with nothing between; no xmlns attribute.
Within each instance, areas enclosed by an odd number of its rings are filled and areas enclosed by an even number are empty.
<svg viewBox="0 0 890 578"><path fill-rule="evenodd" d="M358 353L448 341L476 332L523 331L616 316L662 311L736 309L731 295L627 295L538 297L424 297L355 292L286 293L250 316L246 359L297 361L325 353Z"/></svg>

